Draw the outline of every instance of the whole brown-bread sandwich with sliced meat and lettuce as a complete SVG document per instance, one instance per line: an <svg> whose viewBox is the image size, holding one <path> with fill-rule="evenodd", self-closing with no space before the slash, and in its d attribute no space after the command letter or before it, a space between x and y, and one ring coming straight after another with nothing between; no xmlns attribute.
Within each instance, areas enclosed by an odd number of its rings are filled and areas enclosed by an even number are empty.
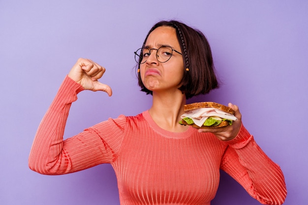
<svg viewBox="0 0 308 205"><path fill-rule="evenodd" d="M179 122L195 128L218 128L232 125L237 120L234 110L215 102L197 102L184 105L185 114Z"/></svg>

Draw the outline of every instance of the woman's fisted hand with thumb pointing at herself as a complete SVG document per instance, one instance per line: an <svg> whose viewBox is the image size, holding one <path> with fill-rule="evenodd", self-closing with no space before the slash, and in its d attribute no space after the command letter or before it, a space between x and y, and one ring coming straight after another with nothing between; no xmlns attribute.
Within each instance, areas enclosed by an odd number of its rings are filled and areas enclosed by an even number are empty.
<svg viewBox="0 0 308 205"><path fill-rule="evenodd" d="M104 72L105 68L92 60L78 59L76 64L68 73L68 77L79 83L84 89L92 91L101 90L107 92L107 94L111 96L111 88L108 85L97 81L103 76Z"/></svg>

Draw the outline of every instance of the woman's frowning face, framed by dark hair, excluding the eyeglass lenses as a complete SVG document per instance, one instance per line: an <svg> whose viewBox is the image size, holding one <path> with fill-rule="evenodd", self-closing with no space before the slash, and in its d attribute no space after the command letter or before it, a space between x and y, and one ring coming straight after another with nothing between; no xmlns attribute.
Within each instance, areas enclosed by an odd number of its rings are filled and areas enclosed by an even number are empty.
<svg viewBox="0 0 308 205"><path fill-rule="evenodd" d="M176 30L171 27L158 27L154 29L145 44L145 48L158 49L161 46L170 46L181 53ZM156 50L151 50L147 61L140 65L141 80L146 88L156 91L172 91L181 87L184 62L181 54L173 52L167 62L156 59Z"/></svg>

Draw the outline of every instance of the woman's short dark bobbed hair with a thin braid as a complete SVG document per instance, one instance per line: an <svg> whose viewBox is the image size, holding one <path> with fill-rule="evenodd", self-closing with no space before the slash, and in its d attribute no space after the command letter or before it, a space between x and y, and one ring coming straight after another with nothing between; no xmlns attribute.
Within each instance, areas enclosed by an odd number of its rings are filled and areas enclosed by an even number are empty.
<svg viewBox="0 0 308 205"><path fill-rule="evenodd" d="M218 88L211 47L204 34L198 29L193 29L179 21L160 21L150 29L142 47L145 46L150 33L163 26L176 29L185 66L182 86L179 89L185 93L186 99L199 94L206 94L212 89ZM136 65L136 68L140 69L140 63ZM189 71L186 71L186 68ZM153 94L143 85L140 73L138 73L138 84L141 91Z"/></svg>

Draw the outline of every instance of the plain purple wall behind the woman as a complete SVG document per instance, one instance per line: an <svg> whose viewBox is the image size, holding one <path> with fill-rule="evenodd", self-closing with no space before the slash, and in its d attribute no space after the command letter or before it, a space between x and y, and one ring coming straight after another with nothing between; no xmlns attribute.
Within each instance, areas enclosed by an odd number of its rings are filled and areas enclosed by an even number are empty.
<svg viewBox="0 0 308 205"><path fill-rule="evenodd" d="M202 30L220 89L192 101L239 105L243 122L286 179L284 205L307 205L308 1L0 0L0 205L119 205L109 164L64 176L28 168L37 126L75 61L107 71L113 96L84 91L65 138L151 106L139 91L133 52L162 19ZM212 205L259 205L222 173Z"/></svg>

